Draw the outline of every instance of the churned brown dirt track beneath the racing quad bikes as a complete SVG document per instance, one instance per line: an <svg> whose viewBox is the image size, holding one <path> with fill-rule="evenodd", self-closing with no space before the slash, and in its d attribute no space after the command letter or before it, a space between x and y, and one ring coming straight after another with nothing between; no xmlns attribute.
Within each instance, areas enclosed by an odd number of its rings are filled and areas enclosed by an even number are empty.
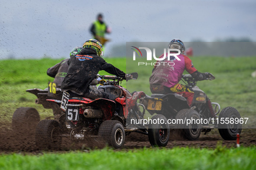
<svg viewBox="0 0 256 170"><path fill-rule="evenodd" d="M44 141L42 141L44 142ZM171 131L169 143L166 148L173 147L195 147L195 148L215 148L217 143L222 142L227 148L236 147L236 141L224 141L217 129L204 135L201 133L199 140L188 141L181 139L175 132ZM62 144L60 148L55 148L50 150L50 152L65 152L65 151L76 151L76 150L87 150L88 148L95 147L91 145L88 141L87 143L74 143L68 138L62 139ZM243 129L240 135L240 145L250 146L256 145L256 129ZM103 148L104 145L98 144L97 148ZM150 148L148 136L142 135L136 132L132 132L130 135L126 136L126 142L124 145L124 150L131 150L134 148ZM42 151L37 148L35 144L34 135L24 136L17 135L13 133L10 127L2 126L0 129L0 154L8 153L29 153L29 154L40 154Z"/></svg>

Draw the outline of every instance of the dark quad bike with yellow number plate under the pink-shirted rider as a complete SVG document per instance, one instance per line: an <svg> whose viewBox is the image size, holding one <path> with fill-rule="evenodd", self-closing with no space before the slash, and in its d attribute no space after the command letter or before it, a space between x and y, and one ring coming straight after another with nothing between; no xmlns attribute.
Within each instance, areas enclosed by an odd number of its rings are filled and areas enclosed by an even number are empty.
<svg viewBox="0 0 256 170"><path fill-rule="evenodd" d="M215 77L211 75L208 79L213 80ZM151 115L162 114L169 120L175 120L173 124L169 122L170 128L174 128L185 139L197 140L201 132L206 134L214 128L218 128L224 140L237 139L242 125L233 120L240 120L240 113L233 107L226 107L220 112L220 104L211 102L204 91L196 86L197 81L191 75L183 75L181 80L194 91L192 107L188 106L186 98L176 93L152 94L141 98L139 103Z"/></svg>

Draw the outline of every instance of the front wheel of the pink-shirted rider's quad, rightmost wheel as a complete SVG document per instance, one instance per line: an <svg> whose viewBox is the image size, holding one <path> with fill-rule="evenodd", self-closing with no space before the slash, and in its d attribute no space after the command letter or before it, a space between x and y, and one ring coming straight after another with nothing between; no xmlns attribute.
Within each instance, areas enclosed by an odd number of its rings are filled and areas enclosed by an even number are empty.
<svg viewBox="0 0 256 170"><path fill-rule="evenodd" d="M226 118L229 121L229 123L221 123L221 120L226 120ZM223 110L221 110L219 115L219 123L218 123L218 130L220 132L221 137L224 140L236 140L237 139L237 133L241 133L242 131L242 125L240 123L230 123L231 120L240 120L241 116L240 113L237 111L237 109L233 107L226 107Z"/></svg>

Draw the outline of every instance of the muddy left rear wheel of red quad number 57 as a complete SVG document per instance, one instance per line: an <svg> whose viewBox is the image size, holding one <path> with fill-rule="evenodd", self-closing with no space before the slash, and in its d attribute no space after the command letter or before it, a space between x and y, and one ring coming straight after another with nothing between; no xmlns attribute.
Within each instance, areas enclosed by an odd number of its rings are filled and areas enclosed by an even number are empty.
<svg viewBox="0 0 256 170"><path fill-rule="evenodd" d="M42 149L58 148L62 143L60 124L56 120L41 120L36 126L36 145Z"/></svg>

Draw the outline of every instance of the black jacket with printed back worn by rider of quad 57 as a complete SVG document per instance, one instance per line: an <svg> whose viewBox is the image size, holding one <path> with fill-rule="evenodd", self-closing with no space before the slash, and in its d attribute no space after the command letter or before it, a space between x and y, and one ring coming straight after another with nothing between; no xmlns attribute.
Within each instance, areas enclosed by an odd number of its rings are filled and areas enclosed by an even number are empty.
<svg viewBox="0 0 256 170"><path fill-rule="evenodd" d="M79 54L68 60L68 65L68 74L62 82L61 89L62 91L70 90L79 95L83 95L89 90L89 84L100 70L120 77L126 75L123 71L99 57L92 48L83 48Z"/></svg>

